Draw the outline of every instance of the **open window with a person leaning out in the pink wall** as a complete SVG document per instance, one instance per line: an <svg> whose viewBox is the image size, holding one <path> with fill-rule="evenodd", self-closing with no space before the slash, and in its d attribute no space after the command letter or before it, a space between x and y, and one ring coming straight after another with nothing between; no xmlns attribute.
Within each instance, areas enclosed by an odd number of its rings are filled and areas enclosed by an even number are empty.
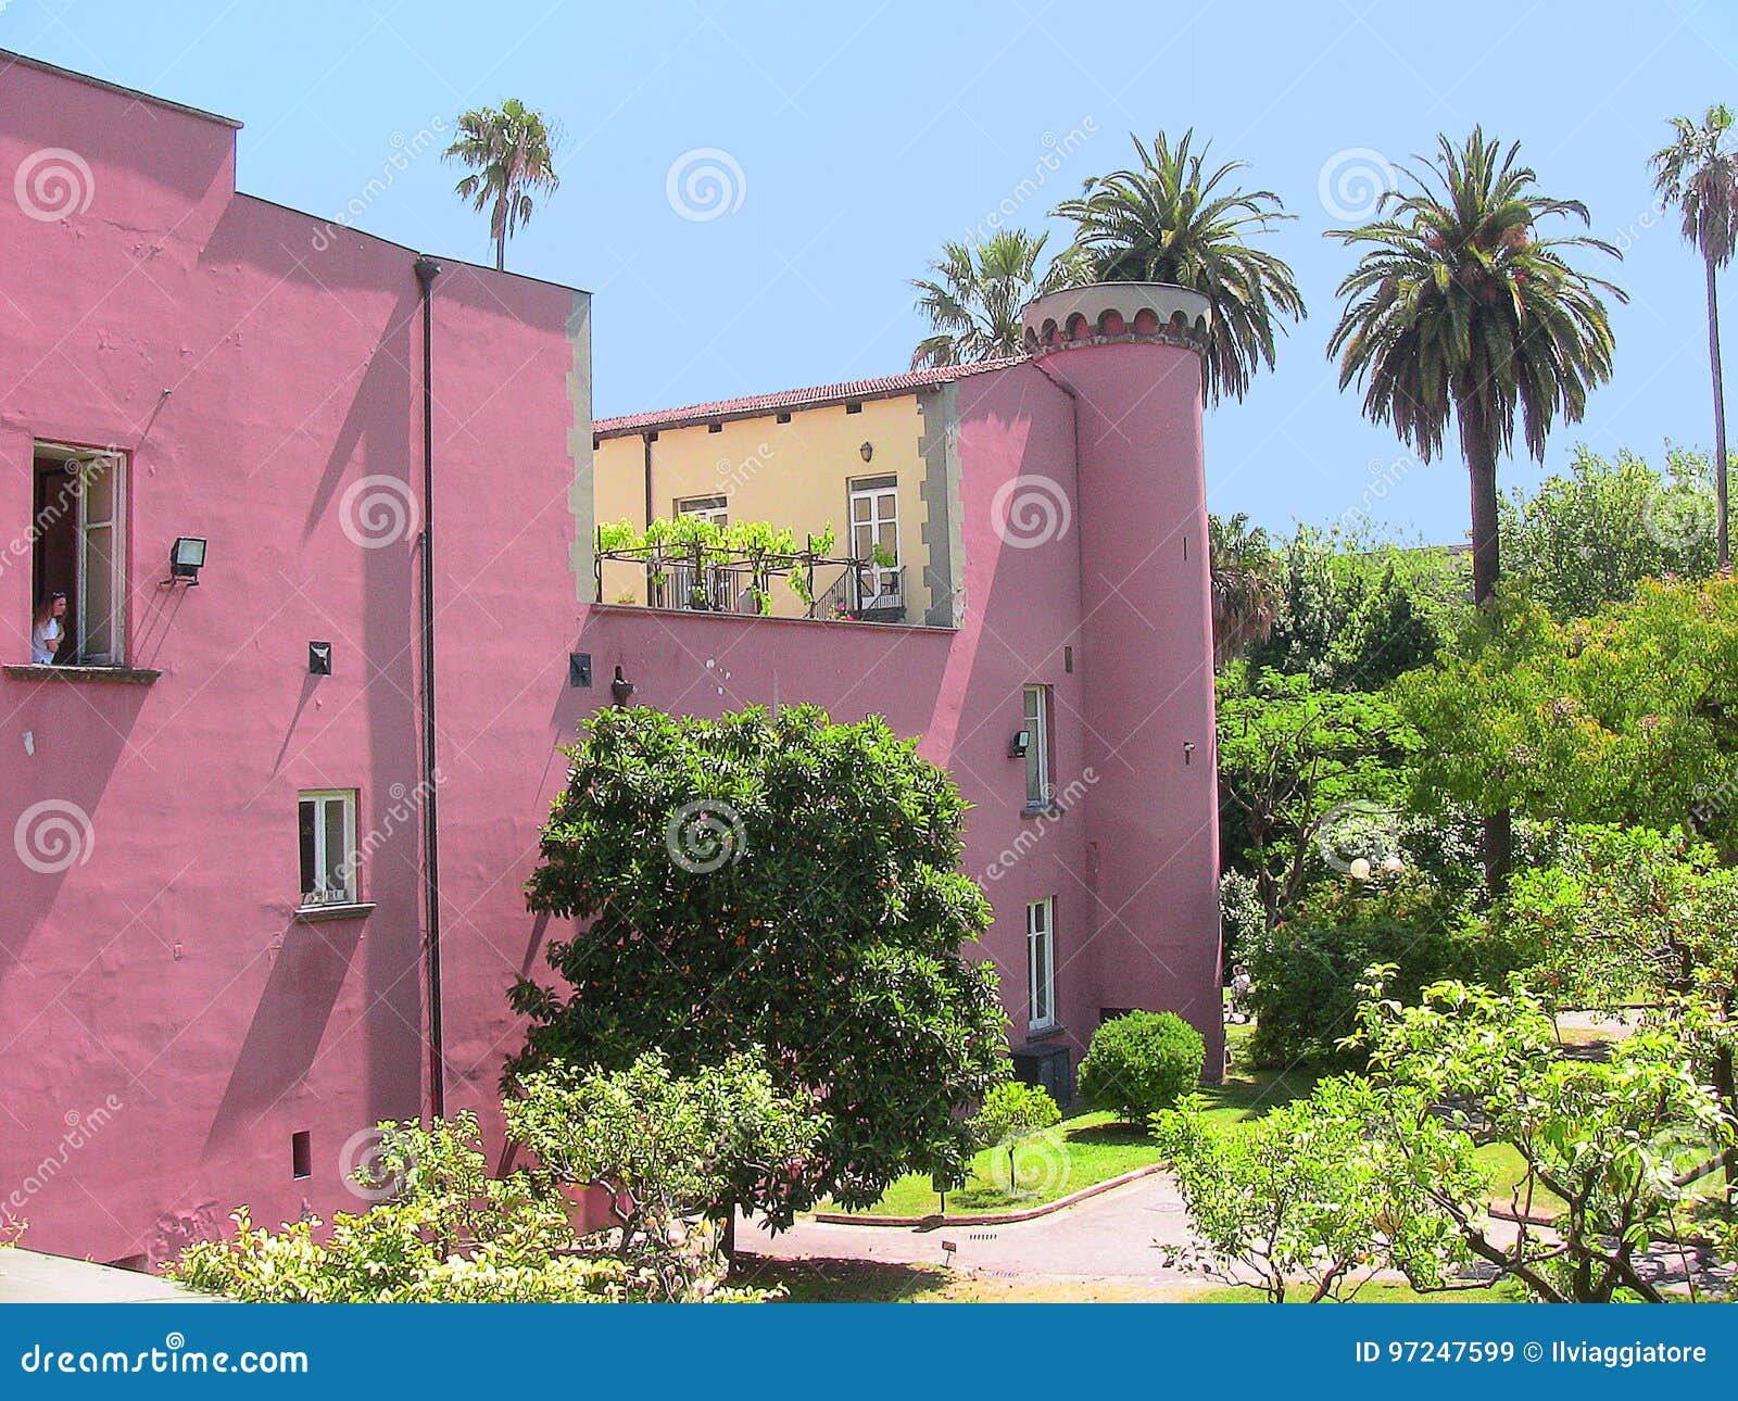
<svg viewBox="0 0 1738 1401"><path fill-rule="evenodd" d="M36 443L31 504L31 661L125 666L127 459Z"/></svg>

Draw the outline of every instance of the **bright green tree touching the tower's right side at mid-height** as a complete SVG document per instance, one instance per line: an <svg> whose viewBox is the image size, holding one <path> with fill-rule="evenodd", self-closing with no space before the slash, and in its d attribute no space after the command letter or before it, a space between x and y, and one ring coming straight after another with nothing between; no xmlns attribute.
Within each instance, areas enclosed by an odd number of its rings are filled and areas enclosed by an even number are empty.
<svg viewBox="0 0 1738 1401"><path fill-rule="evenodd" d="M1394 820L1418 735L1383 695L1317 690L1307 676L1232 667L1220 680L1220 847L1257 885L1267 925ZM1342 850L1345 848L1345 850ZM1354 850L1356 848L1356 850Z"/></svg>

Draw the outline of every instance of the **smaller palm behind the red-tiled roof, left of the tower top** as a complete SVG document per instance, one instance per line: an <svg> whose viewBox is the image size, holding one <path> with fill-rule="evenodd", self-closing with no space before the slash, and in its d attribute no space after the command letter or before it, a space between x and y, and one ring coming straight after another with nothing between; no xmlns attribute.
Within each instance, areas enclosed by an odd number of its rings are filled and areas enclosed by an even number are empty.
<svg viewBox="0 0 1738 1401"><path fill-rule="evenodd" d="M1058 287L1060 261L1039 276L1038 259L1050 235L999 229L984 243L944 243L930 264L933 278L918 278L918 311L932 334L918 342L911 369L1001 360L1020 353L1020 308Z"/></svg>

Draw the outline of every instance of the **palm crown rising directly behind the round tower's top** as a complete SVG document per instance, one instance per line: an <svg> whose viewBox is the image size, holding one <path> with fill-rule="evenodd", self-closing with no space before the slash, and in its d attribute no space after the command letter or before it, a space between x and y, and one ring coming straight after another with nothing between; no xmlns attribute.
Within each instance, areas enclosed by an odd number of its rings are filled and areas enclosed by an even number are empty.
<svg viewBox="0 0 1738 1401"><path fill-rule="evenodd" d="M1065 259L1086 282L1170 282L1204 295L1213 304L1208 398L1241 400L1258 365L1274 365L1274 318L1304 316L1291 268L1246 240L1295 216L1270 189L1215 193L1246 162L1208 170L1206 146L1189 153L1194 130L1175 148L1164 132L1151 148L1130 139L1138 169L1090 179L1081 198L1057 205L1076 222Z"/></svg>

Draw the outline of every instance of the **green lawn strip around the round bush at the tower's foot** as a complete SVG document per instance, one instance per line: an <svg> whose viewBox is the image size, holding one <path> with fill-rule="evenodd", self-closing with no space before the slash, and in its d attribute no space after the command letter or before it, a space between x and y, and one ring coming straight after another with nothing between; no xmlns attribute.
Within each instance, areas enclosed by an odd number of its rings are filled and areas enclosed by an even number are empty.
<svg viewBox="0 0 1738 1401"><path fill-rule="evenodd" d="M1224 1085L1203 1090L1211 1106L1208 1114L1218 1123L1241 1123L1265 1114L1276 1104L1309 1093L1314 1076L1239 1072ZM947 1194L949 1215L963 1212L1001 1212L1041 1206L1081 1187L1119 1177L1133 1168L1159 1161L1158 1149L1144 1126L1116 1123L1111 1114L1078 1112L1048 1135L1027 1140L1013 1159L1010 1191L1006 1151L985 1149L972 1159L972 1177ZM916 1173L899 1179L864 1215L928 1217L942 1210L942 1201L928 1177Z"/></svg>

